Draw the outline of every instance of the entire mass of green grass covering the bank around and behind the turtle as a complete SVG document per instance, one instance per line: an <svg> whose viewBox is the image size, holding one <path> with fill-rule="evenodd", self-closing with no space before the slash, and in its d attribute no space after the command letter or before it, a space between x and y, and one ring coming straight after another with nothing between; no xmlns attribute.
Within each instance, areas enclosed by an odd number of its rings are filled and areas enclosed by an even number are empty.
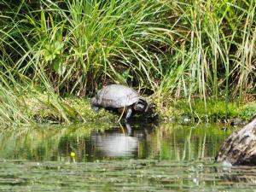
<svg viewBox="0 0 256 192"><path fill-rule="evenodd" d="M29 96L47 108L47 119L76 121L82 112L65 100L109 83L153 94L163 111L182 99L184 113L198 115L197 98L205 117L219 112L211 100L223 103L224 118L234 116L230 102L255 100L254 0L3 0L0 6L1 124L37 121ZM235 116L247 119L253 103Z"/></svg>

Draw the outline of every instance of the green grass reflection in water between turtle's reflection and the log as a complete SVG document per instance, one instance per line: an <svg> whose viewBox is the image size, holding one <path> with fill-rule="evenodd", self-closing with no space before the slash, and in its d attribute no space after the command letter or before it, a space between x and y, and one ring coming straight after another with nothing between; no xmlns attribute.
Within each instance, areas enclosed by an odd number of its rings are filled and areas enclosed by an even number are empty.
<svg viewBox="0 0 256 192"><path fill-rule="evenodd" d="M148 156L177 161L214 157L228 134L218 125L163 124L148 139Z"/></svg>

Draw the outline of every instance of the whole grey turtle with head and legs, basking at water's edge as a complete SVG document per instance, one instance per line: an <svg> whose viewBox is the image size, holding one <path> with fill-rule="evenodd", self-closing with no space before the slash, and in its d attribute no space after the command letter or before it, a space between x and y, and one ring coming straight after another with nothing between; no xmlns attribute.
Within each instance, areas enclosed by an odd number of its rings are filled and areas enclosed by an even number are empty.
<svg viewBox="0 0 256 192"><path fill-rule="evenodd" d="M125 121L135 112L147 112L148 102L136 90L122 84L109 84L91 99L91 107L106 108L125 113Z"/></svg>

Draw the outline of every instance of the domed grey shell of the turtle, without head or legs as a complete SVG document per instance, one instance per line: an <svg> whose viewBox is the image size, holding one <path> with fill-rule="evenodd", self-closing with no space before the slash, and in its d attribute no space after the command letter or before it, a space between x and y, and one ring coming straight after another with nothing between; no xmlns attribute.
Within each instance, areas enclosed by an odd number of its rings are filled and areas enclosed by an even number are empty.
<svg viewBox="0 0 256 192"><path fill-rule="evenodd" d="M124 108L140 99L137 91L122 84L110 84L99 90L94 105L102 108Z"/></svg>

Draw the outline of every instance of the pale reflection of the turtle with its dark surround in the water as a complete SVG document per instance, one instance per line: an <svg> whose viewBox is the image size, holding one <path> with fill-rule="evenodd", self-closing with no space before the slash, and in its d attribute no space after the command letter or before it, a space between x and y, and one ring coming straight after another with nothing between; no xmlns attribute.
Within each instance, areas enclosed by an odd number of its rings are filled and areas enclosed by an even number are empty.
<svg viewBox="0 0 256 192"><path fill-rule="evenodd" d="M129 124L126 124L130 126ZM151 134L154 132L155 126L152 124L144 124L137 127L137 129L131 131L127 130L127 134L124 134L118 128L104 132L91 132L90 134L90 146L92 150L88 149L96 155L96 158L104 159L106 157L128 157L137 158L141 155L142 144L151 140ZM131 127L130 127L131 130Z"/></svg>

